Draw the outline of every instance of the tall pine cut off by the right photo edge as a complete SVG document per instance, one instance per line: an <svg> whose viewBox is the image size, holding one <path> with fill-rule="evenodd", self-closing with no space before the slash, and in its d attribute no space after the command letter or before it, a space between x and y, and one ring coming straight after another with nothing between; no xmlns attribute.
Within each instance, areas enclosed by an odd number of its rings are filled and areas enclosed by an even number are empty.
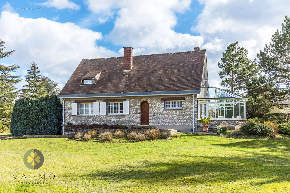
<svg viewBox="0 0 290 193"><path fill-rule="evenodd" d="M282 92L290 93L290 18L285 16L282 32L272 35L272 42L264 52L257 53L258 65L267 75L267 81L275 83ZM285 95L287 96L287 95ZM281 98L280 100L284 100Z"/></svg>

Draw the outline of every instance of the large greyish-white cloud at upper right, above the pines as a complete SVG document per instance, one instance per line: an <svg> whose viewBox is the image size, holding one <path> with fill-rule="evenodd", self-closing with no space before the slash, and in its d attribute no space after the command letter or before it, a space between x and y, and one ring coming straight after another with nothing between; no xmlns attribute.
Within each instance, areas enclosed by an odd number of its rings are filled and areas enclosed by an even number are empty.
<svg viewBox="0 0 290 193"><path fill-rule="evenodd" d="M248 49L248 57L253 60L256 53L263 50L266 43L269 44L272 34L277 29L281 30L281 23L290 10L287 0L199 1L204 4L204 9L191 31L200 33L204 38L201 48L209 51L209 84L213 85L220 82L219 78L215 78L219 77L220 71L217 62L229 43L238 41L239 46Z"/></svg>

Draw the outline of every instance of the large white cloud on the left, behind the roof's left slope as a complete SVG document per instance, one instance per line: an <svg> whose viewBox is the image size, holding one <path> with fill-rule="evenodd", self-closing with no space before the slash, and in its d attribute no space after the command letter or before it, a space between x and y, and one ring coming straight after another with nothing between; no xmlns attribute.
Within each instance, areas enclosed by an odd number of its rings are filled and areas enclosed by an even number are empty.
<svg viewBox="0 0 290 193"><path fill-rule="evenodd" d="M29 69L34 61L41 72L59 82L60 88L82 58L120 55L96 45L96 41L102 39L101 33L81 28L74 23L23 18L17 13L3 11L0 26L1 40L7 41L6 50L16 49L9 57L12 63L20 65L21 69Z"/></svg>

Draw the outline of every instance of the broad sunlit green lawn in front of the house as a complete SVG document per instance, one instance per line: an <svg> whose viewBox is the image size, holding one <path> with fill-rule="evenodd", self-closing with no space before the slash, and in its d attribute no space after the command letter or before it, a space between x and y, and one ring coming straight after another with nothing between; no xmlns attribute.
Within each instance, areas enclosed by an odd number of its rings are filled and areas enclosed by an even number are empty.
<svg viewBox="0 0 290 193"><path fill-rule="evenodd" d="M65 138L0 141L0 192L289 192L290 140L182 134L144 142ZM123 142L123 143L121 143ZM24 166L29 149L44 155ZM55 174L47 185L18 184L12 174Z"/></svg>

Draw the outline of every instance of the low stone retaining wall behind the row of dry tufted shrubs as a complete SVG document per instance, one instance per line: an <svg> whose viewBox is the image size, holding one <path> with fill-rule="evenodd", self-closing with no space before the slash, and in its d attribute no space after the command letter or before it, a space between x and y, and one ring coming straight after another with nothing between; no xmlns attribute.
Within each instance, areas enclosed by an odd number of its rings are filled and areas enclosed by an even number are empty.
<svg viewBox="0 0 290 193"><path fill-rule="evenodd" d="M93 129L96 130L97 133L104 133L106 131L109 131L111 133L115 133L117 130L123 131L125 133L125 135L129 135L129 133L131 133L132 131L136 131L137 133L141 132L141 133L146 133L146 130L148 129ZM159 129L161 135L161 138L167 138L167 137L171 137L172 135L174 135L177 130L175 129ZM78 133L78 132L75 132ZM87 133L87 132L79 132L79 133Z"/></svg>

